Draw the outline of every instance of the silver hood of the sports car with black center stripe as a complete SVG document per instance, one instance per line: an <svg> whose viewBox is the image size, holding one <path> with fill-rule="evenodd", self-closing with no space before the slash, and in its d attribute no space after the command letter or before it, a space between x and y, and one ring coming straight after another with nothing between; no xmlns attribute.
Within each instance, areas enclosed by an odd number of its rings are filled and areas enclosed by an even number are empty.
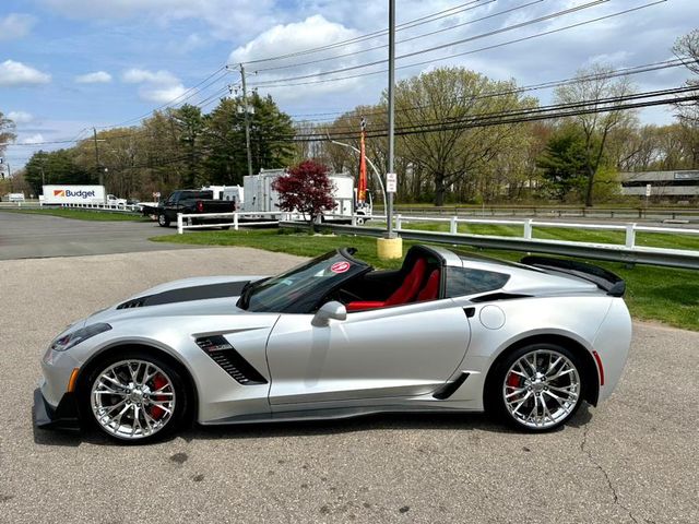
<svg viewBox="0 0 699 524"><path fill-rule="evenodd" d="M146 317L239 314L246 284L262 276L206 276L169 282L90 315L85 324Z"/></svg>

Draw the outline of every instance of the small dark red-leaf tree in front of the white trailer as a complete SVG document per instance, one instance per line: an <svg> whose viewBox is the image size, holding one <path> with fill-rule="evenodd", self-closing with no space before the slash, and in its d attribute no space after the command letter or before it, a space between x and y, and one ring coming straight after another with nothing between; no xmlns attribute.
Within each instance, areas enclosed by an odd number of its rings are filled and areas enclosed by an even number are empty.
<svg viewBox="0 0 699 524"><path fill-rule="evenodd" d="M311 230L319 215L335 209L332 199L335 188L328 170L322 164L304 160L272 182L272 189L280 194L280 210L308 216Z"/></svg>

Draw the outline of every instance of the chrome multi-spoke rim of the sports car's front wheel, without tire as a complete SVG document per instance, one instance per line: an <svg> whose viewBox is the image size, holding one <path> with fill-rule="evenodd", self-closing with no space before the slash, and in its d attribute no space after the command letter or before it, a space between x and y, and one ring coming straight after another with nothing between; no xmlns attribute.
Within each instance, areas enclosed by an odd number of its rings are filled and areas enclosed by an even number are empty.
<svg viewBox="0 0 699 524"><path fill-rule="evenodd" d="M153 362L122 360L104 369L90 393L92 413L108 433L123 440L151 437L175 413L171 379Z"/></svg>

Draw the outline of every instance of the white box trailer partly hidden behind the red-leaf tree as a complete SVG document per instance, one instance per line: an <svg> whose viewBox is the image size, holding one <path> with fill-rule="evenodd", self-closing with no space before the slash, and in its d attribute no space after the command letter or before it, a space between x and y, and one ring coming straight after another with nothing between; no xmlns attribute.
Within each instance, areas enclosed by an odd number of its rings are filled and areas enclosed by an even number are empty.
<svg viewBox="0 0 699 524"><path fill-rule="evenodd" d="M272 189L272 182L284 175L284 169L263 170L259 175L242 178L245 200L242 211L247 213L274 213L280 211L280 195ZM352 219L355 203L354 177L350 174L329 175L335 187L333 200L335 209L327 213L323 219Z"/></svg>

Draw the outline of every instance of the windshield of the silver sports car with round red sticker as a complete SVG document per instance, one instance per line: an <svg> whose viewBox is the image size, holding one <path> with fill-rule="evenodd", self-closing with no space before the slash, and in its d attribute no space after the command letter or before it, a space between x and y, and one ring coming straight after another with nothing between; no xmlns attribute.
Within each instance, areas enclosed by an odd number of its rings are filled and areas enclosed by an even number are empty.
<svg viewBox="0 0 699 524"><path fill-rule="evenodd" d="M238 306L248 311L308 313L332 289L371 267L331 251L272 278L252 283Z"/></svg>

